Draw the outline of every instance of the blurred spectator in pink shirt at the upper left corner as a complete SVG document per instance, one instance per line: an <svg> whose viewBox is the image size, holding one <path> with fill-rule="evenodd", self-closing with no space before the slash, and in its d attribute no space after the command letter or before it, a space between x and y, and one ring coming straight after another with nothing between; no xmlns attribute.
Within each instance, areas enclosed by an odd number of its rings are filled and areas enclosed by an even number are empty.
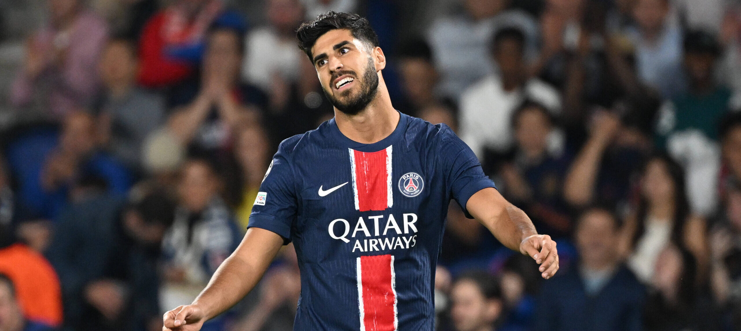
<svg viewBox="0 0 741 331"><path fill-rule="evenodd" d="M105 22L86 10L84 1L48 4L50 22L26 41L24 64L13 82L11 100L21 108L21 118L36 113L60 119L90 105L100 85L97 63L108 33Z"/></svg>

